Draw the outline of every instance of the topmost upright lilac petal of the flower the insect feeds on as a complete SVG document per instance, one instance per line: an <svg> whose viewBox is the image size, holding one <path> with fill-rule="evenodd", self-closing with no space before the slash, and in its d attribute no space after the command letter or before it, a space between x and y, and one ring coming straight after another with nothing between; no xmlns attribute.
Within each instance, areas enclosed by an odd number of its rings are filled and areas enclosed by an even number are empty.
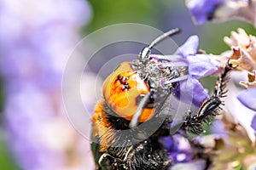
<svg viewBox="0 0 256 170"><path fill-rule="evenodd" d="M199 38L197 36L191 36L187 39L186 42L180 46L175 54L183 56L186 59L189 55L195 55L198 48Z"/></svg>

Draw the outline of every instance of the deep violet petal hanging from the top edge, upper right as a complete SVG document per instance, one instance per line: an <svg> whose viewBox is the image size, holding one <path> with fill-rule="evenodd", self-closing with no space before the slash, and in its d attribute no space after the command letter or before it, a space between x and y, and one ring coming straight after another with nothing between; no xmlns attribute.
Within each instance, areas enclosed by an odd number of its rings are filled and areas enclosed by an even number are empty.
<svg viewBox="0 0 256 170"><path fill-rule="evenodd" d="M224 0L189 0L186 5L197 24L212 20L215 8Z"/></svg>

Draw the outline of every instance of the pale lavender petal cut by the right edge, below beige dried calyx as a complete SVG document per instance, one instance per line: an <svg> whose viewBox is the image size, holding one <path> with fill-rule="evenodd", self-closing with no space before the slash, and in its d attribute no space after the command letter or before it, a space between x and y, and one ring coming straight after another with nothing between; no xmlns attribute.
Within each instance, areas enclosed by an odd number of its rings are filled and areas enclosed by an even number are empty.
<svg viewBox="0 0 256 170"><path fill-rule="evenodd" d="M256 111L256 88L248 88L247 90L241 91L237 99L243 105L247 106L247 108Z"/></svg>

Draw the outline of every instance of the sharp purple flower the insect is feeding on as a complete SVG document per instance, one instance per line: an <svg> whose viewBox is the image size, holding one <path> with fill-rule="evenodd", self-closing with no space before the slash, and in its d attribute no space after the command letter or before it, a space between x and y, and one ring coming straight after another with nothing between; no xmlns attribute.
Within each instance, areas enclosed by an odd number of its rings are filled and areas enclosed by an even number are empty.
<svg viewBox="0 0 256 170"><path fill-rule="evenodd" d="M179 87L173 89L173 94L177 99L188 104L200 107L201 103L209 96L207 90L202 87L198 81L201 77L207 77L218 71L218 61L211 59L208 54L196 54L198 48L198 37L191 36L179 47L173 55L155 55L150 57L154 59L167 59L170 63L161 65L171 65L173 67L188 67L188 75L174 78L170 81L163 81L163 84L179 82Z"/></svg>

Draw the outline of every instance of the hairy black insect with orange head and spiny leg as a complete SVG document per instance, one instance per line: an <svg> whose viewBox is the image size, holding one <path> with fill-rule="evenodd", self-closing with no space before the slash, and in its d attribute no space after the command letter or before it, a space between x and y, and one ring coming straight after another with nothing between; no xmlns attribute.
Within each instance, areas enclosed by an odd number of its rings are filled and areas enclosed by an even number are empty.
<svg viewBox="0 0 256 170"><path fill-rule="evenodd" d="M172 80L187 75L188 67L165 65L167 59L154 59L150 54L157 43L178 31L157 37L143 48L138 59L121 63L103 83L104 99L97 103L92 116L91 150L96 169L168 169L172 165L160 138L170 135L172 118L165 108L178 85ZM201 133L201 122L217 114L229 71L218 78L215 93L197 114L184 117L183 129ZM163 84L163 80L169 83ZM141 126L145 122L155 125L154 133L148 134L148 127Z"/></svg>

